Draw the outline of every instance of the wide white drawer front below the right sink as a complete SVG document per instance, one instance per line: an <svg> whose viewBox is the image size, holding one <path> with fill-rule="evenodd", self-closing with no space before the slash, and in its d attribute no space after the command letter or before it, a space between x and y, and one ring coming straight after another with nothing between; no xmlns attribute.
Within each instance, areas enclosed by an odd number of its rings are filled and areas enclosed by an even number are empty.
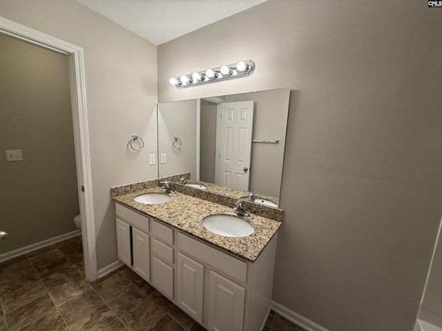
<svg viewBox="0 0 442 331"><path fill-rule="evenodd" d="M213 266L229 276L245 283L247 280L247 262L236 259L216 248L193 239L186 234L178 233L178 248L200 259L204 264Z"/></svg>

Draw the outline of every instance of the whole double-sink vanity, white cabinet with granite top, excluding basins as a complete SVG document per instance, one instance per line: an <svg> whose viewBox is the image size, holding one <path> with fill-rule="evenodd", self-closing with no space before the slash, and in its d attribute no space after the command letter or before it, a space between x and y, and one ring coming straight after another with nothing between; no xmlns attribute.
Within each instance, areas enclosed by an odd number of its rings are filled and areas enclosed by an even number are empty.
<svg viewBox="0 0 442 331"><path fill-rule="evenodd" d="M166 203L113 196L118 257L207 330L257 331L270 309L280 221L251 214L253 233L224 237L202 226L232 208L179 192Z"/></svg>

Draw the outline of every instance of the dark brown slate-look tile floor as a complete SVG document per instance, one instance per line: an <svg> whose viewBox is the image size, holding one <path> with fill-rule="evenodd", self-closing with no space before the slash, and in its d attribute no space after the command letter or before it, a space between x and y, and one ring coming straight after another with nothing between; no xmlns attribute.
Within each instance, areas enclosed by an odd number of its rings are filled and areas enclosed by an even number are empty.
<svg viewBox="0 0 442 331"><path fill-rule="evenodd" d="M81 238L0 263L0 331L204 331L126 266L89 283ZM305 331L270 312L263 331Z"/></svg>

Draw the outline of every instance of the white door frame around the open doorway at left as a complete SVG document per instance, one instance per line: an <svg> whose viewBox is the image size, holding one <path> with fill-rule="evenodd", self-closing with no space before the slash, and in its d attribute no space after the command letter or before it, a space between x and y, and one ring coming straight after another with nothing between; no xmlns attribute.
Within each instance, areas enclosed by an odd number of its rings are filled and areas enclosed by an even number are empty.
<svg viewBox="0 0 442 331"><path fill-rule="evenodd" d="M95 249L95 222L83 49L48 34L22 26L4 17L0 17L0 33L68 56L77 188L82 217L81 237L84 252L84 272L88 281L94 281L97 279L97 251Z"/></svg>

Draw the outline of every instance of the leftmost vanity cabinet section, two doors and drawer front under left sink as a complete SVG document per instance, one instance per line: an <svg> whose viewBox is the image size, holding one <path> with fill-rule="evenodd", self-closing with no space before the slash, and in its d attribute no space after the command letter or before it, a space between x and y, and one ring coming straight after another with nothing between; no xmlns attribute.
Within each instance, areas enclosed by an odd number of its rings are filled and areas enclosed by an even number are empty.
<svg viewBox="0 0 442 331"><path fill-rule="evenodd" d="M118 259L145 281L151 281L149 218L115 204Z"/></svg>

